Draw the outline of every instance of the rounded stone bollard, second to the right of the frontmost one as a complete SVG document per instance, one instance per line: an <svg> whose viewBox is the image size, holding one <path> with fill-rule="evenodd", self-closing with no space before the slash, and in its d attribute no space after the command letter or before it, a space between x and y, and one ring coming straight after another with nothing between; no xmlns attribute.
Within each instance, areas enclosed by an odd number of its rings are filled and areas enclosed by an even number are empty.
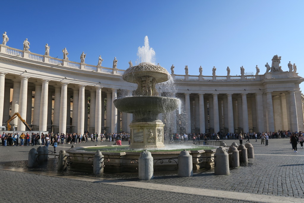
<svg viewBox="0 0 304 203"><path fill-rule="evenodd" d="M214 154L214 174L229 175L229 157L223 147L217 148Z"/></svg>

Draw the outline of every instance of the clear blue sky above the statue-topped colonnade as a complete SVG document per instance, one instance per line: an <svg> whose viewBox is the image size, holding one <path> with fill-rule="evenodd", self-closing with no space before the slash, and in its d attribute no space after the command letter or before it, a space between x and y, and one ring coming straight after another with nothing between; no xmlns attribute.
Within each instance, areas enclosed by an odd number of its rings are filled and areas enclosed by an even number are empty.
<svg viewBox="0 0 304 203"><path fill-rule="evenodd" d="M50 45L50 56L62 58L67 48L69 59L126 69L128 61L137 59L139 46L147 35L156 52L156 63L175 74L240 75L260 73L271 58L282 56L283 71L288 61L303 70L304 1L5 1L1 2L0 32L7 32L8 46L22 49L28 38L30 51L44 54ZM4 18L4 19L3 19ZM304 85L301 85L304 88Z"/></svg>

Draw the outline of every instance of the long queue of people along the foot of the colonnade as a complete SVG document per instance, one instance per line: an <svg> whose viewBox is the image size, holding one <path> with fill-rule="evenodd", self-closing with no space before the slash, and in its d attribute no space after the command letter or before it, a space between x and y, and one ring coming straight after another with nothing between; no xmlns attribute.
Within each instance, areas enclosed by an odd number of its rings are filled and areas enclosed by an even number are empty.
<svg viewBox="0 0 304 203"><path fill-rule="evenodd" d="M250 139L261 139L261 145L269 146L269 139L280 139L280 138L290 138L290 143L292 144L292 149L297 152L297 144L300 143L301 148L303 148L303 134L302 132L291 132L291 131L275 131L275 132L253 132L253 133L188 133L184 135L179 135L177 133L172 134L165 139L170 141L184 141L188 140L194 141L208 141L208 140L219 140L219 139L234 139L239 140L240 144L243 144L243 140L250 142ZM116 145L121 145L121 141L129 141L130 145L130 134L125 132L120 133L89 133L85 132L83 135L81 133L49 133L41 135L39 133L5 133L1 135L2 146L35 146L35 145L45 145L54 146L54 151L56 152L56 147L58 144L77 144L77 143L87 143L87 142L114 142ZM89 141L90 140L90 141ZM20 143L19 143L20 141Z"/></svg>

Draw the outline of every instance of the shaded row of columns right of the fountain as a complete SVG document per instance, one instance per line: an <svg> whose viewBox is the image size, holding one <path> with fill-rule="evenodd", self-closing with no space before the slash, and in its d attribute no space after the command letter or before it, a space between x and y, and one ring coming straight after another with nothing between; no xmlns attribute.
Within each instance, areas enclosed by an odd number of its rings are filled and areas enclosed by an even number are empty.
<svg viewBox="0 0 304 203"><path fill-rule="evenodd" d="M300 91L264 93L184 93L185 131L299 131L303 125ZM207 110L207 111L206 111Z"/></svg>

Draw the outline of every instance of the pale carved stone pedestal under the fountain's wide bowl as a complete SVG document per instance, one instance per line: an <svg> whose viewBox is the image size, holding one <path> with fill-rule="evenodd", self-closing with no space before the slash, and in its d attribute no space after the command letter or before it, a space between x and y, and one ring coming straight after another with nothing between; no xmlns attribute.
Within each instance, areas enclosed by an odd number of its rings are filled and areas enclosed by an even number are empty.
<svg viewBox="0 0 304 203"><path fill-rule="evenodd" d="M163 148L164 124L163 122L132 122L131 149Z"/></svg>

